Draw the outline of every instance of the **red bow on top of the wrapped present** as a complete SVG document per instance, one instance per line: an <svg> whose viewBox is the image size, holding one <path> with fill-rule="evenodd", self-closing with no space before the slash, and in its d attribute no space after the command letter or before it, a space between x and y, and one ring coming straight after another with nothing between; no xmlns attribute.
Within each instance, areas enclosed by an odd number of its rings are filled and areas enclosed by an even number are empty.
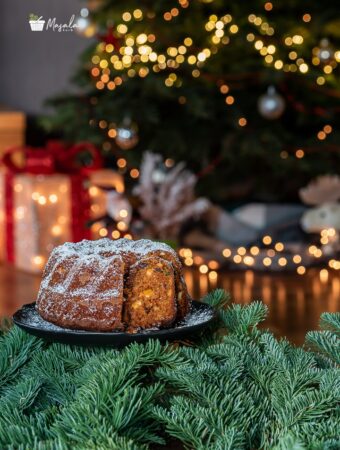
<svg viewBox="0 0 340 450"><path fill-rule="evenodd" d="M83 166L77 161L81 153L90 153L91 164ZM15 153L25 153L25 165L20 167L14 160ZM50 175L53 173L86 174L103 167L103 160L97 147L90 142L67 147L60 141L47 142L46 148L16 147L7 150L3 164L13 173Z"/></svg>

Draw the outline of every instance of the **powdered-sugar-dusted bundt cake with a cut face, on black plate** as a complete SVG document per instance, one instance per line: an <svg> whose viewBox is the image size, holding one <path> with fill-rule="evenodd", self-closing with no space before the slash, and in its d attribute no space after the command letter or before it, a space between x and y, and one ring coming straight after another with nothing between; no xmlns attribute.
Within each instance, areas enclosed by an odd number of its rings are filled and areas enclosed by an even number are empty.
<svg viewBox="0 0 340 450"><path fill-rule="evenodd" d="M190 306L176 252L147 239L83 240L56 247L37 298L45 320L90 331L169 327Z"/></svg>

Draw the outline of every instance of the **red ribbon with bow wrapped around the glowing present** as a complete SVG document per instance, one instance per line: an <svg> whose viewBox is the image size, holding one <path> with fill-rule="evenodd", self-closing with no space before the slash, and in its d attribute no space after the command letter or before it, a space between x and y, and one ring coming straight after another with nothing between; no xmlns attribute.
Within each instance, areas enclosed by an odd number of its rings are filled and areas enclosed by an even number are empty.
<svg viewBox="0 0 340 450"><path fill-rule="evenodd" d="M79 156L91 154L91 164L81 165ZM13 159L18 153L25 154L24 166L19 166ZM29 173L33 175L68 174L71 182L71 231L74 242L90 239L90 230L84 224L90 217L90 197L85 186L90 172L103 167L103 160L97 147L89 142L82 142L67 147L59 141L49 141L46 148L11 148L2 157L7 167L5 175L5 215L6 215L6 253L7 260L14 262L14 175Z"/></svg>

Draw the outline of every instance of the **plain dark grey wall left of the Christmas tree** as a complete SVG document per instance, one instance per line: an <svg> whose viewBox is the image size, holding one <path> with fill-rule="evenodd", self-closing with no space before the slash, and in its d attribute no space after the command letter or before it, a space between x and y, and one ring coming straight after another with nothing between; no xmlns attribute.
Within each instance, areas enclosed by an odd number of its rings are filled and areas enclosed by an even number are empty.
<svg viewBox="0 0 340 450"><path fill-rule="evenodd" d="M89 40L76 32L33 32L29 14L68 23L80 15L82 0L0 1L0 105L29 115L42 113L43 102L66 90L79 54ZM74 88L73 88L74 89Z"/></svg>

